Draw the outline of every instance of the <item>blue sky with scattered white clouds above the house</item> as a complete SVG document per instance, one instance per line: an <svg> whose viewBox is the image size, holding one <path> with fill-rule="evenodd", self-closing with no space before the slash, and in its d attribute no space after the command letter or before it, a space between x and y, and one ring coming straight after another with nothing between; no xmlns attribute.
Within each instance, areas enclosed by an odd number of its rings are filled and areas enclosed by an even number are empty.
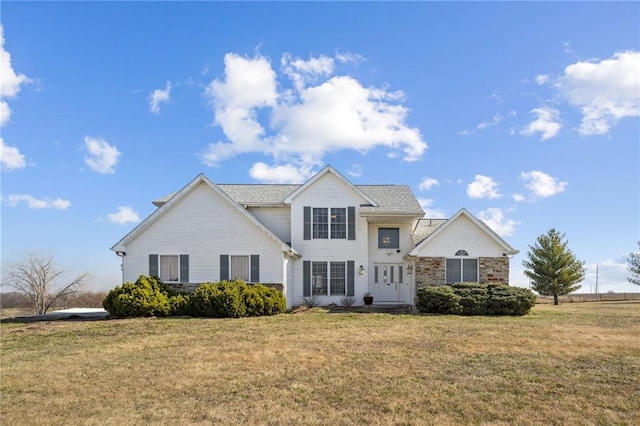
<svg viewBox="0 0 640 426"><path fill-rule="evenodd" d="M583 292L638 291L640 4L3 2L2 261L110 250L204 172L410 185L520 250L551 227Z"/></svg>

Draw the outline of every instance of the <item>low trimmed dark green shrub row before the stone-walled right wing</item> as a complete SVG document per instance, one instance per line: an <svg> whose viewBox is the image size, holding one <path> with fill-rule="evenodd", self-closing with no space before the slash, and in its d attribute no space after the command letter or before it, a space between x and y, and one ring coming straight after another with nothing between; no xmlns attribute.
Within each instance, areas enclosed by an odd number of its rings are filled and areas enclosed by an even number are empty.
<svg viewBox="0 0 640 426"><path fill-rule="evenodd" d="M531 290L506 284L426 286L415 299L420 312L451 315L525 315L536 304Z"/></svg>

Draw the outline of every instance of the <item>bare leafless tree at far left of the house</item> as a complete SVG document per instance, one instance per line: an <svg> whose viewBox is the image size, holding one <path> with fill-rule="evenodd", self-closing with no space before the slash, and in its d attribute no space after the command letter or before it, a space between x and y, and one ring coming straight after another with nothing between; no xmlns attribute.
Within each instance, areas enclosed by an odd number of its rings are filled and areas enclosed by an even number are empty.
<svg viewBox="0 0 640 426"><path fill-rule="evenodd" d="M45 314L57 301L75 295L89 279L88 273L60 284L64 271L56 268L52 255L29 253L3 268L2 285L26 295L36 314Z"/></svg>

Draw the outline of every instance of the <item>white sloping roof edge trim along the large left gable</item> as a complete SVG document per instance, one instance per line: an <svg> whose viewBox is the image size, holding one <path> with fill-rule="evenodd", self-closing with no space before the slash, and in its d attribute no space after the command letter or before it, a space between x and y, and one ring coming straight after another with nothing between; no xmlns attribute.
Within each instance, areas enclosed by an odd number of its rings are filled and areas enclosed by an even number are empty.
<svg viewBox="0 0 640 426"><path fill-rule="evenodd" d="M198 187L201 183L208 185L211 189L213 189L218 195L220 195L227 203L229 203L239 214L244 215L247 219L249 219L255 226L260 228L269 238L274 240L276 243L280 245L283 251L291 252L295 254L295 251L291 249L286 243L284 243L278 236L276 236L273 232L271 232L268 228L266 228L258 219L255 218L251 213L249 213L246 209L244 209L241 205L235 202L229 195L227 195L224 191L222 191L215 183L210 181L204 174L199 174L195 177L191 182L189 182L185 187L183 187L178 192L174 193L171 198L169 198L166 202L162 204L156 211L151 213L146 219L140 222L131 232L125 235L120 241L118 241L111 250L113 251L126 251L126 246L142 234L147 228L149 228L153 223L155 223L159 218L161 218L164 214L166 214L171 208L173 208L176 204L178 204L186 195L191 193L195 188Z"/></svg>

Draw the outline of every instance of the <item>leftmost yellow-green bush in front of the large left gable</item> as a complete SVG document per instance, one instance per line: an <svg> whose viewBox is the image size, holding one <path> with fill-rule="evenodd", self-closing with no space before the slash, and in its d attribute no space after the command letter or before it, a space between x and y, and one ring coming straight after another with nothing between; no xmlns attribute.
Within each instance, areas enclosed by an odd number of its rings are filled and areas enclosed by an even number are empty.
<svg viewBox="0 0 640 426"><path fill-rule="evenodd" d="M115 317L162 317L171 313L165 286L157 278L144 275L135 283L111 290L102 305Z"/></svg>

